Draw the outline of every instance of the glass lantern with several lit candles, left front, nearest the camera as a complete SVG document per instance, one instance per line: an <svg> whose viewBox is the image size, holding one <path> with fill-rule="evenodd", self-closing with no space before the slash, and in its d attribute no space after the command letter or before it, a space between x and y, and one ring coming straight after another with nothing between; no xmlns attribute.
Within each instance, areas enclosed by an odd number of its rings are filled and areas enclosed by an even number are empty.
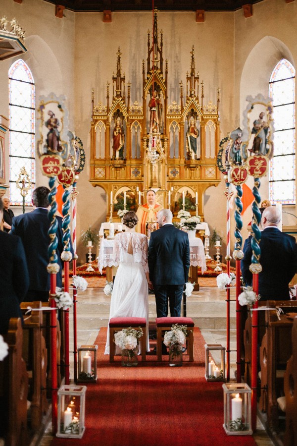
<svg viewBox="0 0 297 446"><path fill-rule="evenodd" d="M86 386L61 386L58 390L58 429L61 438L82 438L85 432Z"/></svg>

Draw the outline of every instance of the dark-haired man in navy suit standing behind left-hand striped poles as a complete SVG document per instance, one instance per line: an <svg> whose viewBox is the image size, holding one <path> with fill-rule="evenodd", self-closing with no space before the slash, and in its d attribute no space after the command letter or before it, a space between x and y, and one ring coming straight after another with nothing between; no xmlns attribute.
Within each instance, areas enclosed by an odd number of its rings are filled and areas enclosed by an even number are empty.
<svg viewBox="0 0 297 446"><path fill-rule="evenodd" d="M29 269L30 285L26 295L26 300L31 302L49 300L50 279L47 271L49 264L49 235L50 226L48 217L49 189L45 186L37 187L33 191L32 202L36 209L27 214L14 217L12 220L11 234L19 235L23 241L27 264ZM60 271L56 275L56 284L62 287L62 262L60 259L63 251L62 242L62 219L56 217L58 228L56 236L58 246L56 254Z"/></svg>

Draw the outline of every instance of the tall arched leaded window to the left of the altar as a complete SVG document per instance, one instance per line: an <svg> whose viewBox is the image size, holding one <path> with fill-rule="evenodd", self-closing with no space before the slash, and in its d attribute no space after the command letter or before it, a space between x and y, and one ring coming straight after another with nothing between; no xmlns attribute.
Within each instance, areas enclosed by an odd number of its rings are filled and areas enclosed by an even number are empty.
<svg viewBox="0 0 297 446"><path fill-rule="evenodd" d="M16 180L22 167L35 185L35 85L28 65L18 59L9 71L9 189L10 202L23 203ZM32 205L32 189L25 197Z"/></svg>

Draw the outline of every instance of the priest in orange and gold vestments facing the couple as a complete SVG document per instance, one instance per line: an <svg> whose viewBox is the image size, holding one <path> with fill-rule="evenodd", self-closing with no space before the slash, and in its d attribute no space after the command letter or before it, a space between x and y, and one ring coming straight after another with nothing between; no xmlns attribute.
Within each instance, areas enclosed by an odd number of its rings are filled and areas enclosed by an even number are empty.
<svg viewBox="0 0 297 446"><path fill-rule="evenodd" d="M141 232L150 236L151 230L157 229L157 213L163 209L161 205L155 202L156 194L155 191L149 189L147 192L147 203L139 206L136 214L138 217L138 223L136 226L136 231Z"/></svg>

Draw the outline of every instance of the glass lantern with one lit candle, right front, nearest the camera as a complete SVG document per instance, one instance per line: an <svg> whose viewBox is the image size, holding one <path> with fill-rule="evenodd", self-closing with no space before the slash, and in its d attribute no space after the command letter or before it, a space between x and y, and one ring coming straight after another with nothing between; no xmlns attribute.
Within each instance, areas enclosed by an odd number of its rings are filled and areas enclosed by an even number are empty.
<svg viewBox="0 0 297 446"><path fill-rule="evenodd" d="M251 390L246 383L223 384L224 424L227 435L252 435Z"/></svg>

